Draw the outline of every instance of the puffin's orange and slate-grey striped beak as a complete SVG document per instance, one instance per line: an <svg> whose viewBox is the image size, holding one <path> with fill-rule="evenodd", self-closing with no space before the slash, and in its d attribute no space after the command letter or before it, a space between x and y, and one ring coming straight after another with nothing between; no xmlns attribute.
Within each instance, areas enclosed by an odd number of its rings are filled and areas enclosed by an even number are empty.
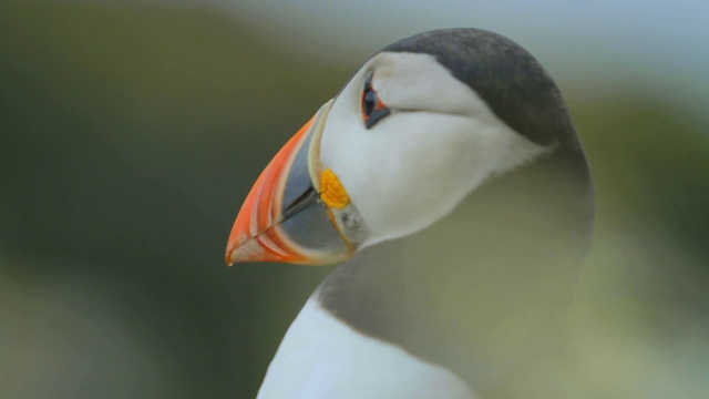
<svg viewBox="0 0 709 399"><path fill-rule="evenodd" d="M270 161L242 205L226 247L226 263L279 262L328 265L352 248L320 201L311 147L323 129L329 104L306 123Z"/></svg>

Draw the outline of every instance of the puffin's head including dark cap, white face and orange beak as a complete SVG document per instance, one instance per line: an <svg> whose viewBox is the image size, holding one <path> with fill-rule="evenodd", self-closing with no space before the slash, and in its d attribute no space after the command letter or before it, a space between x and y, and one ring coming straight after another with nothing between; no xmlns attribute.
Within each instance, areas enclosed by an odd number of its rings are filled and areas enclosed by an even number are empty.
<svg viewBox="0 0 709 399"><path fill-rule="evenodd" d="M404 39L277 153L242 206L226 262L347 260L559 150L583 158L558 89L520 45L475 29Z"/></svg>

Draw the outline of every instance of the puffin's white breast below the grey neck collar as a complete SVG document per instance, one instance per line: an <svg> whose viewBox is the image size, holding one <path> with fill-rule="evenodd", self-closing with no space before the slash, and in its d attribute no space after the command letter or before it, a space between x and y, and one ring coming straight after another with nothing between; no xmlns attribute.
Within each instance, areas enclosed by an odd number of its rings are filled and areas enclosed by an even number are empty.
<svg viewBox="0 0 709 399"><path fill-rule="evenodd" d="M257 399L472 399L465 381L351 329L310 298L292 323Z"/></svg>

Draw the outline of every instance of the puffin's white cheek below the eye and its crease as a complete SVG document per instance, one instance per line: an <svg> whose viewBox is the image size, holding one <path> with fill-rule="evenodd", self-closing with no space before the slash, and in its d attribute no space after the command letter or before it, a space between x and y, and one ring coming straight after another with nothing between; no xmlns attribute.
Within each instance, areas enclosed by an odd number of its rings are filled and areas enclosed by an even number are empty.
<svg viewBox="0 0 709 399"><path fill-rule="evenodd" d="M424 112L392 116L380 131L342 134L323 160L369 227L366 246L430 226L489 176L547 151L502 124Z"/></svg>

